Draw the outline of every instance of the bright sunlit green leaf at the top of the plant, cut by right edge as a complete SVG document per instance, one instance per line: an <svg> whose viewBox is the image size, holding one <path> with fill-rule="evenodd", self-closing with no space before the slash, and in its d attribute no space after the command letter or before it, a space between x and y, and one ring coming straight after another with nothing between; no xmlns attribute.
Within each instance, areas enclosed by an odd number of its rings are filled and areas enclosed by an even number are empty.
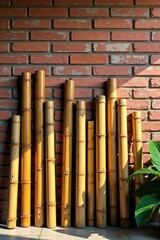
<svg viewBox="0 0 160 240"><path fill-rule="evenodd" d="M160 142L150 141L149 152L151 154L152 164L160 171Z"/></svg>

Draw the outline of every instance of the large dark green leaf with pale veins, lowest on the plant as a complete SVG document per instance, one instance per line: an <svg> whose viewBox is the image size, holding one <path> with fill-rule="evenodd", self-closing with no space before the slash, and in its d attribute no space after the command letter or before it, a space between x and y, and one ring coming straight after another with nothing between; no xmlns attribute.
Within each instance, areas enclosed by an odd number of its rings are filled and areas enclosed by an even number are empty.
<svg viewBox="0 0 160 240"><path fill-rule="evenodd" d="M160 204L160 197L158 194L146 195L142 197L135 210L135 218L138 227L142 227L151 217Z"/></svg>

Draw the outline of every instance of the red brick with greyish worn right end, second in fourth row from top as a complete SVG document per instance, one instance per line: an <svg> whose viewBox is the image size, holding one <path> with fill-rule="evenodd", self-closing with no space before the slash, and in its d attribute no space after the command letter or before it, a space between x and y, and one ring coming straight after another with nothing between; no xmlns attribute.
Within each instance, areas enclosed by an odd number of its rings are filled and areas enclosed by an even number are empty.
<svg viewBox="0 0 160 240"><path fill-rule="evenodd" d="M31 32L31 40L68 40L68 33L64 31L34 31Z"/></svg>

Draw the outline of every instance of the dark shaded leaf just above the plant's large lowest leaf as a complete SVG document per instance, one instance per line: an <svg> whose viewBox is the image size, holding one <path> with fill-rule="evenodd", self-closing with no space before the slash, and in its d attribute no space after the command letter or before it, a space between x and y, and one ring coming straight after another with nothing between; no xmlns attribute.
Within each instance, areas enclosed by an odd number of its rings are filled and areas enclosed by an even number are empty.
<svg viewBox="0 0 160 240"><path fill-rule="evenodd" d="M149 195L153 193L160 193L160 180L147 181L135 191L135 195L143 197L144 195Z"/></svg>

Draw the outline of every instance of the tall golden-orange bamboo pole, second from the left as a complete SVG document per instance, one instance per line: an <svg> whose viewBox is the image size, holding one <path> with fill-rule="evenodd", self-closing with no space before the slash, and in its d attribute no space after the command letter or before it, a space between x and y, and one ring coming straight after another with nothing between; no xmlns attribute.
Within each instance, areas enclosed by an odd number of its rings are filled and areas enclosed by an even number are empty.
<svg viewBox="0 0 160 240"><path fill-rule="evenodd" d="M31 225L31 73L22 74L21 226Z"/></svg>

